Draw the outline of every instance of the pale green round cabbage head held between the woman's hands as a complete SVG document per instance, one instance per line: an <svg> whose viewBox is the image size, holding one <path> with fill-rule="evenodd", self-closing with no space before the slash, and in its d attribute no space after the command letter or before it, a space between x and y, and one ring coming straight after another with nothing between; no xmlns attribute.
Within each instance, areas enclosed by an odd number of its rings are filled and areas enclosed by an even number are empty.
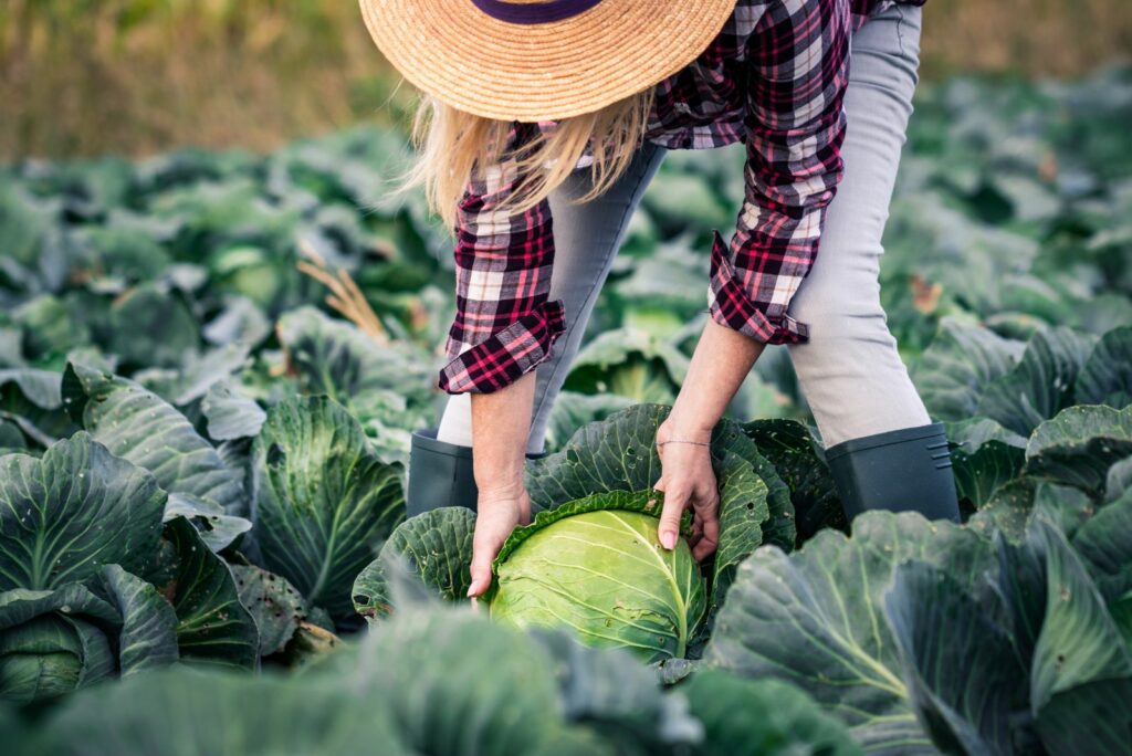
<svg viewBox="0 0 1132 756"><path fill-rule="evenodd" d="M516 530L496 560L492 618L569 629L649 662L684 656L706 613L706 582L684 539L660 545L655 498L600 493Z"/></svg>

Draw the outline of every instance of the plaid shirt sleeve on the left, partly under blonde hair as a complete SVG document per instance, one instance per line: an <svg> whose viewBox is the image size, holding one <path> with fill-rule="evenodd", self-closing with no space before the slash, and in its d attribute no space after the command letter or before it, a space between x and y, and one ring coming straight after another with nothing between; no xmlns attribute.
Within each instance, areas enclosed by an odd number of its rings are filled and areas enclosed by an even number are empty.
<svg viewBox="0 0 1132 756"><path fill-rule="evenodd" d="M507 154L537 129L515 123ZM521 214L499 209L522 180L515 161L504 160L478 170L460 203L456 317L438 381L449 394L508 386L548 359L565 329L561 302L548 301L555 258L549 203Z"/></svg>

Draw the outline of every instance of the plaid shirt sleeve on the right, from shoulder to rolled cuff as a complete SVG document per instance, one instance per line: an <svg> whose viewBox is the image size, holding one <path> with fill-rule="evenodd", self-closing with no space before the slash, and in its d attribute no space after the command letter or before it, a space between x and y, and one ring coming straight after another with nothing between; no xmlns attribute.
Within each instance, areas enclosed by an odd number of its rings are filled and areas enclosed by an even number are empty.
<svg viewBox="0 0 1132 756"><path fill-rule="evenodd" d="M787 309L817 257L825 208L841 180L848 0L783 0L747 46L746 196L731 243L711 252L712 319L752 338L808 338Z"/></svg>

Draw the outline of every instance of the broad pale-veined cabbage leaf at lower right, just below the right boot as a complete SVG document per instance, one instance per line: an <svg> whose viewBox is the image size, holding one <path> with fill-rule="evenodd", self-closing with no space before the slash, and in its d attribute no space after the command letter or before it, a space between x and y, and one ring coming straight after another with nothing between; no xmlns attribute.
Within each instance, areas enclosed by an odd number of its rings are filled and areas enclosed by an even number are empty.
<svg viewBox="0 0 1132 756"><path fill-rule="evenodd" d="M910 559L969 587L993 565L993 550L969 530L907 513L866 513L852 539L822 531L791 556L760 549L739 567L704 659L794 682L866 750L934 754L884 615L894 570Z"/></svg>

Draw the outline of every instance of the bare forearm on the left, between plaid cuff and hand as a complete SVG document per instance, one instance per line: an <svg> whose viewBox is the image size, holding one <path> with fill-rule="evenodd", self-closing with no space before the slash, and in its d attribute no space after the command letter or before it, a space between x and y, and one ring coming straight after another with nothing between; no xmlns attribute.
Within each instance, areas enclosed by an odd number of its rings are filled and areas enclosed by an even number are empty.
<svg viewBox="0 0 1132 756"><path fill-rule="evenodd" d="M534 376L531 371L498 392L472 395L472 446L481 501L522 490Z"/></svg>

